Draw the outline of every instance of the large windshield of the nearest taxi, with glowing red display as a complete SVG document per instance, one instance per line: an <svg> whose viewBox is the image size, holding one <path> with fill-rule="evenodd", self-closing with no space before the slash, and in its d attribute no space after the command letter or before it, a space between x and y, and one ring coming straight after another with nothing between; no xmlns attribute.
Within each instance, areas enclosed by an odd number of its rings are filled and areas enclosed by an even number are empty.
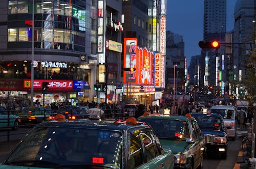
<svg viewBox="0 0 256 169"><path fill-rule="evenodd" d="M121 132L112 130L38 127L15 148L5 164L121 168L122 138Z"/></svg>

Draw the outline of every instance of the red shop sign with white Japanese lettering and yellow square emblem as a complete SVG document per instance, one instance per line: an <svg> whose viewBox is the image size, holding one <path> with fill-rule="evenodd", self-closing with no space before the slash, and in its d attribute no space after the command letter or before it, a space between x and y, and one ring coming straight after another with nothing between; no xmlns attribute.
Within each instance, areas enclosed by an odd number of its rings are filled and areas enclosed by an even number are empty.
<svg viewBox="0 0 256 169"><path fill-rule="evenodd" d="M49 82L49 89L73 89L72 80L34 80L33 88L42 88L42 82ZM24 88L31 88L31 80L24 80Z"/></svg>

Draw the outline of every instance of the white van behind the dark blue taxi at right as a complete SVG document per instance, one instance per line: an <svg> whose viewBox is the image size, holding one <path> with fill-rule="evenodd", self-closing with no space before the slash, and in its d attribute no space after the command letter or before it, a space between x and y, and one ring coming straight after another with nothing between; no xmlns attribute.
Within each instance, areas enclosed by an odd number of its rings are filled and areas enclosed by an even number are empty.
<svg viewBox="0 0 256 169"><path fill-rule="evenodd" d="M232 105L216 105L211 106L211 113L220 114L223 117L225 126L230 126L231 129L227 130L228 137L236 140L237 124L236 124L236 108Z"/></svg>

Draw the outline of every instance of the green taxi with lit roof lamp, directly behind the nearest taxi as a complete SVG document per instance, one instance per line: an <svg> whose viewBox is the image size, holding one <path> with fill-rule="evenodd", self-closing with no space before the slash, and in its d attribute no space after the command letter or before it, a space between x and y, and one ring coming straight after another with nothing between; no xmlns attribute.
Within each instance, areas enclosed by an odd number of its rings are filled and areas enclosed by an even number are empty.
<svg viewBox="0 0 256 169"><path fill-rule="evenodd" d="M205 138L197 121L186 116L147 115L137 121L145 122L154 129L164 150L172 150L175 168L202 167L206 151Z"/></svg>

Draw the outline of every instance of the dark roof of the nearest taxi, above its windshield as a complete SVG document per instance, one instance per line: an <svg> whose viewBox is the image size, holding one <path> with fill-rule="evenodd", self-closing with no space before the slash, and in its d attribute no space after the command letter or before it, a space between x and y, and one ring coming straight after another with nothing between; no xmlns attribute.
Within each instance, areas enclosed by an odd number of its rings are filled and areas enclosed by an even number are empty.
<svg viewBox="0 0 256 169"><path fill-rule="evenodd" d="M101 120L66 120L66 121L46 121L37 125L37 127L77 127L77 128L90 128L90 129L105 129L105 130L118 130L123 132L129 128L151 128L145 123L137 122L137 125L128 125L125 121L101 121Z"/></svg>

